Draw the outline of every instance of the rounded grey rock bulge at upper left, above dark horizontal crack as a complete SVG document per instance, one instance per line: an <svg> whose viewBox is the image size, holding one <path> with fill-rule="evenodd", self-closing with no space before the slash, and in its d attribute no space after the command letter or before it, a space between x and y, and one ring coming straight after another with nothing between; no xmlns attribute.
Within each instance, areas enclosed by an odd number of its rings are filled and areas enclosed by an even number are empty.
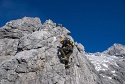
<svg viewBox="0 0 125 84"><path fill-rule="evenodd" d="M0 38L19 39L41 27L42 24L39 18L24 17L23 19L7 22L6 25L0 29Z"/></svg>

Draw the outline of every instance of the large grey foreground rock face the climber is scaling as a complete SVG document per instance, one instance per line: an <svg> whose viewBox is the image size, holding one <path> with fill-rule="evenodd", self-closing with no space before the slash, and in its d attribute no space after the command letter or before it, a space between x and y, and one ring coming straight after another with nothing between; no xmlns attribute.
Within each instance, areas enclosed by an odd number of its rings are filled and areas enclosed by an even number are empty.
<svg viewBox="0 0 125 84"><path fill-rule="evenodd" d="M71 68L60 62L57 46L64 36L73 41L69 34L51 20L8 22L0 29L0 84L103 84L80 43L70 56Z"/></svg>

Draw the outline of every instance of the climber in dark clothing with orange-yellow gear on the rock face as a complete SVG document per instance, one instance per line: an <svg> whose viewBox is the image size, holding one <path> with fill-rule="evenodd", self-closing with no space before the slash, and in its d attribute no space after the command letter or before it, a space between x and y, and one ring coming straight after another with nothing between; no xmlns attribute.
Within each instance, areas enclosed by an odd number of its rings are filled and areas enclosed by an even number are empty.
<svg viewBox="0 0 125 84"><path fill-rule="evenodd" d="M70 67L69 57L73 53L74 42L65 37L60 40L62 47L59 49L61 53L61 60L65 61L65 67Z"/></svg>

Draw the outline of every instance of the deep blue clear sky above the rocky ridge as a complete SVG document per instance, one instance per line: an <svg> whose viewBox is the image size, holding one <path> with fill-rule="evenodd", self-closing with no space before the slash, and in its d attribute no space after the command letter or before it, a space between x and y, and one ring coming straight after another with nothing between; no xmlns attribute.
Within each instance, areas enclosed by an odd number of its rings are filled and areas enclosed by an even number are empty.
<svg viewBox="0 0 125 84"><path fill-rule="evenodd" d="M125 45L125 0L0 0L1 27L24 16L63 24L86 52Z"/></svg>

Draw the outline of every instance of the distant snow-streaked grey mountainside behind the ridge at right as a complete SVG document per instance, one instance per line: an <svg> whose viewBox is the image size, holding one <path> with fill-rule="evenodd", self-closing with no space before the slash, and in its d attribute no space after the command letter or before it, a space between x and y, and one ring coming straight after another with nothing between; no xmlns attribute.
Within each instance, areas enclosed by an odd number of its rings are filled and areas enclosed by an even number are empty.
<svg viewBox="0 0 125 84"><path fill-rule="evenodd" d="M125 46L114 44L102 53L86 53L104 84L125 84Z"/></svg>

